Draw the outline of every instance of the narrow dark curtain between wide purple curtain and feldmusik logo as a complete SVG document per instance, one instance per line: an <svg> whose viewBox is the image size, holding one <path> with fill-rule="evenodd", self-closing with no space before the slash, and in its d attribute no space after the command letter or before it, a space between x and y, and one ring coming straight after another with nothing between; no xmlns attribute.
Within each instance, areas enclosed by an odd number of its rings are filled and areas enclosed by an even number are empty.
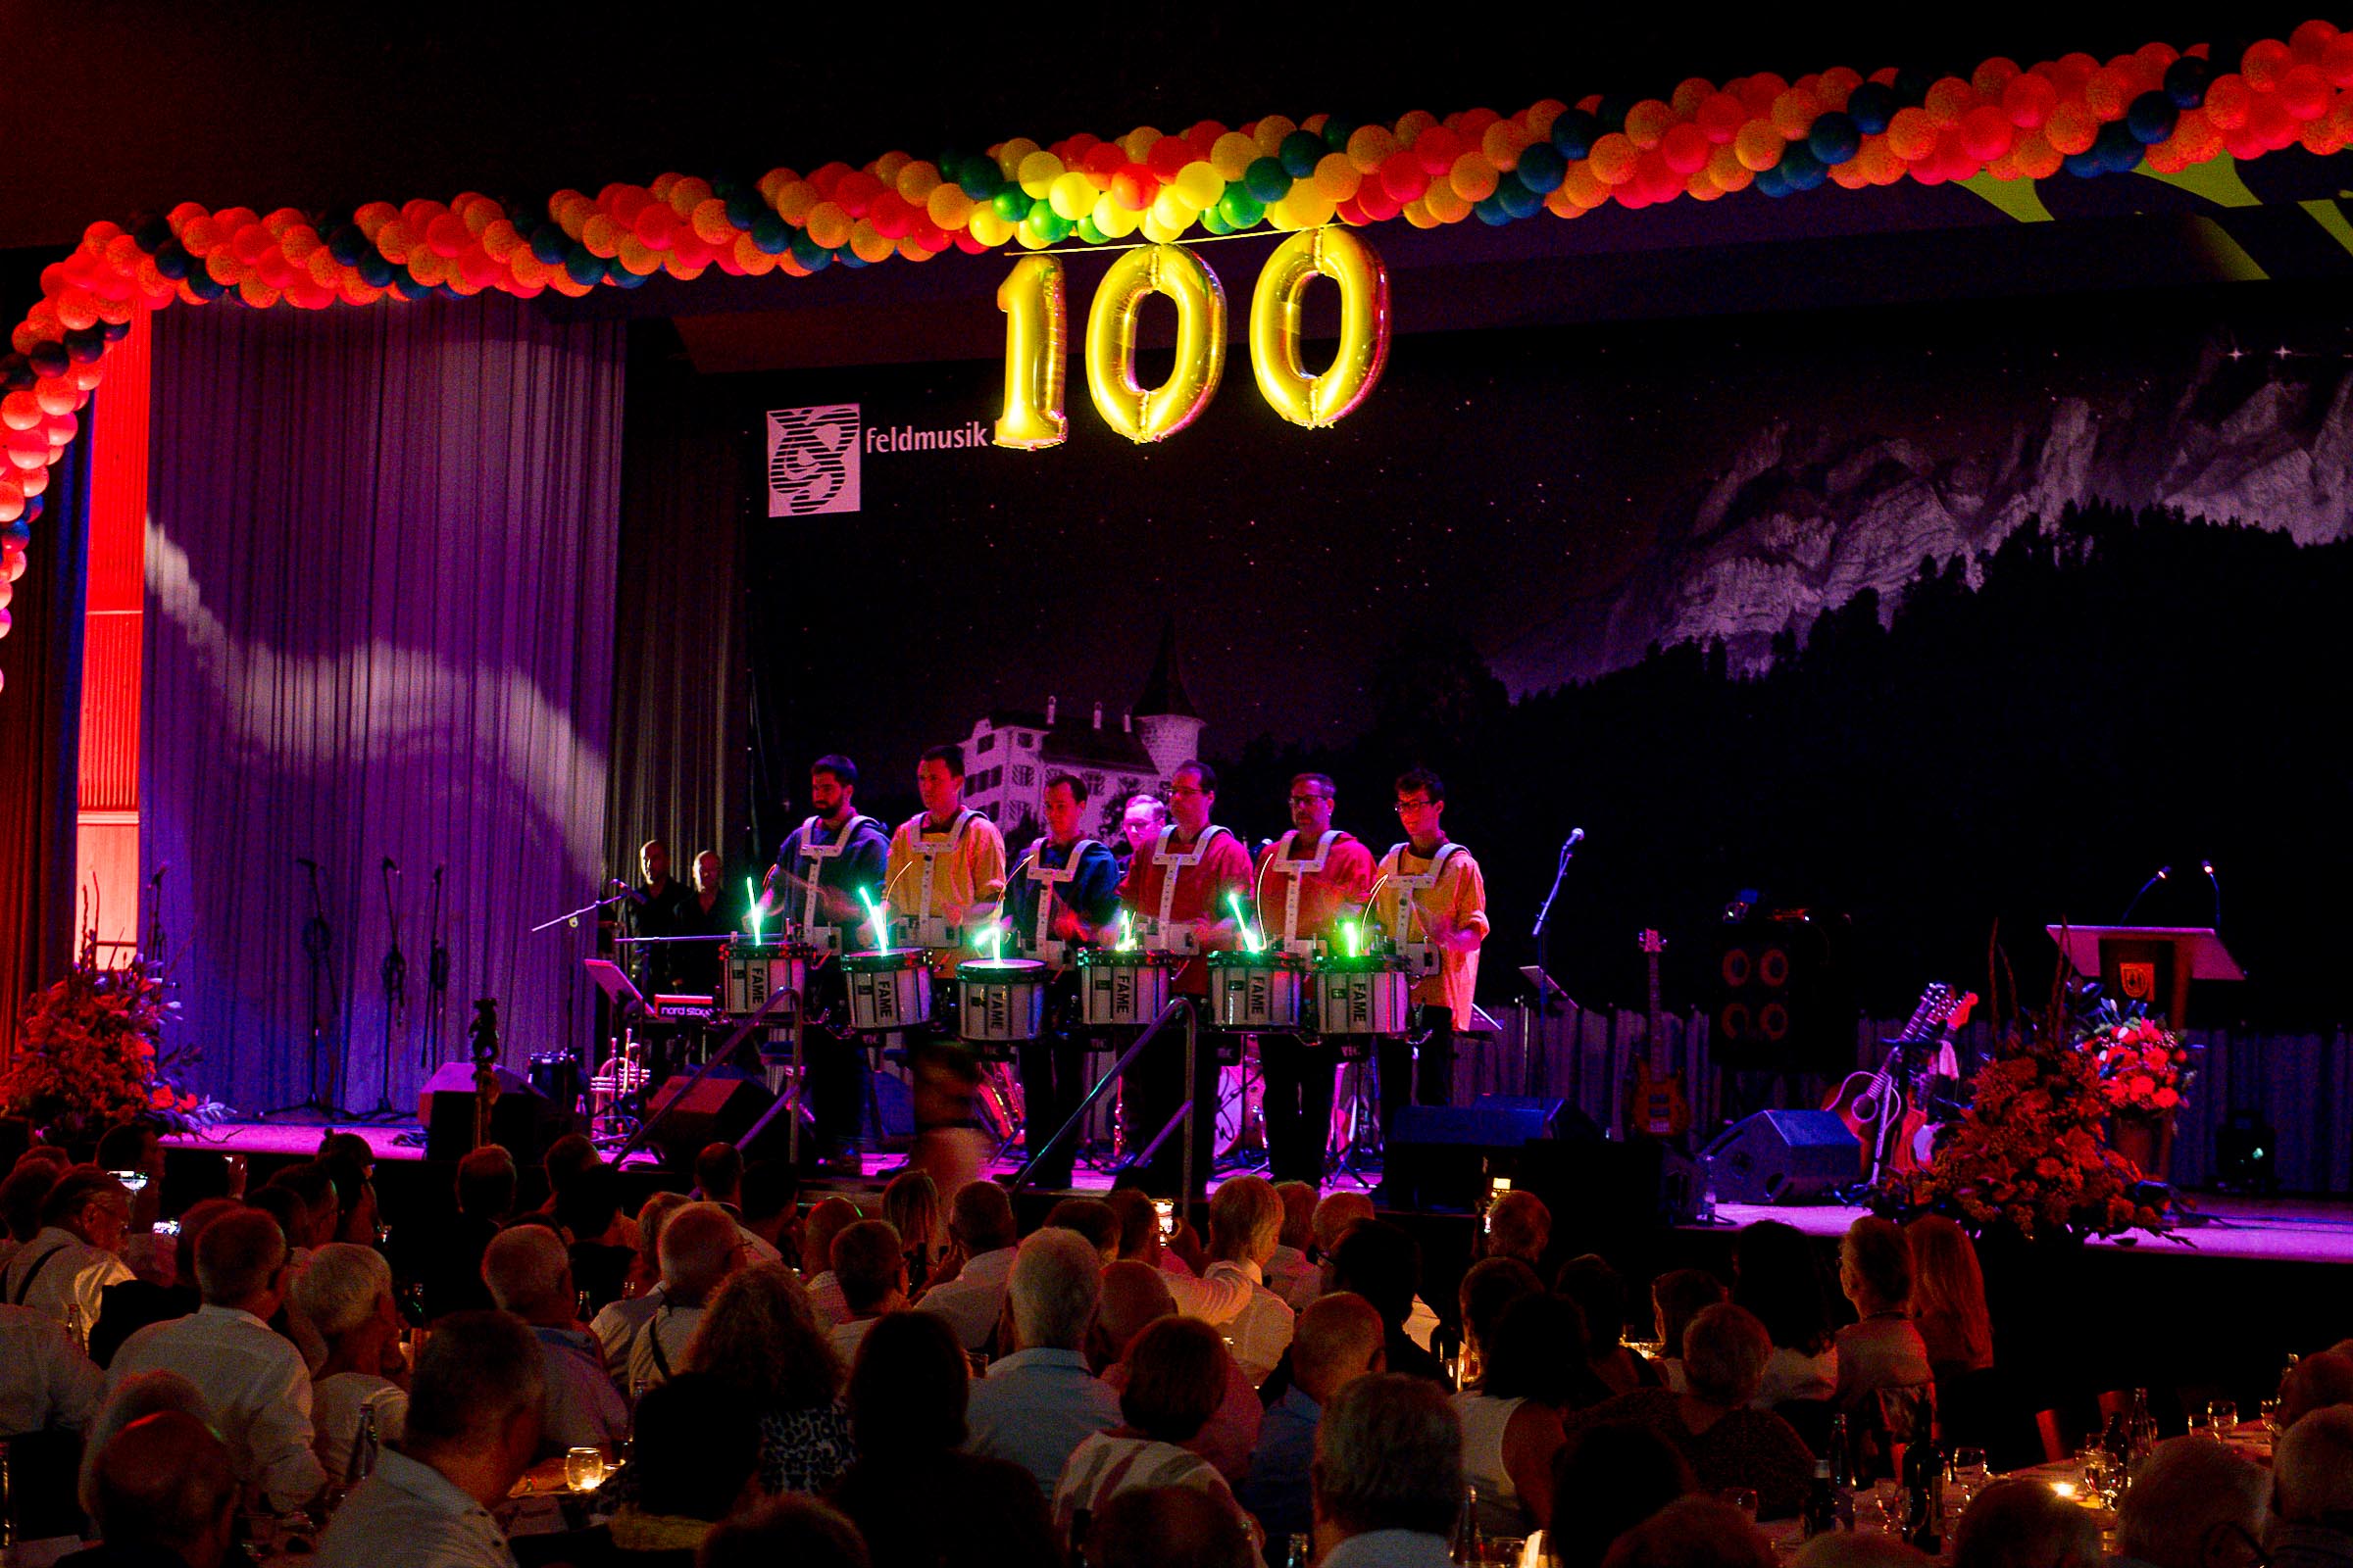
<svg viewBox="0 0 2353 1568"><path fill-rule="evenodd" d="M720 886L744 900L767 870L751 837L744 661L744 470L755 435L741 393L708 390L668 322L638 322L621 442L619 604L612 670L607 858L638 877L638 846L664 839L671 872L720 851Z"/></svg>

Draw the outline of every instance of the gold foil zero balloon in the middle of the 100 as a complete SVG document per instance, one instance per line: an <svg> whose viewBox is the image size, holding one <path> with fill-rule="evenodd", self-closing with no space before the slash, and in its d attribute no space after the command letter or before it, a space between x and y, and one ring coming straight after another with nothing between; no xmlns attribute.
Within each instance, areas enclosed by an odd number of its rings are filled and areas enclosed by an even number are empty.
<svg viewBox="0 0 2353 1568"><path fill-rule="evenodd" d="M1176 369L1136 386L1136 315L1146 294L1176 301ZM1200 256L1151 244L1111 263L1087 308L1087 393L1104 423L1132 442L1162 442L1209 407L1226 369L1226 292Z"/></svg>

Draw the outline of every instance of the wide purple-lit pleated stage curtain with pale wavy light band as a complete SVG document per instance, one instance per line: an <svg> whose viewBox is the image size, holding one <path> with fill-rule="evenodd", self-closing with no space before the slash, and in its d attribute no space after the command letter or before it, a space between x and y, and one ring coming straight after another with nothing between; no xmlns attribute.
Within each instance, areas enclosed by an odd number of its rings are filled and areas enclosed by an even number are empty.
<svg viewBox="0 0 2353 1568"><path fill-rule="evenodd" d="M325 1098L414 1110L438 865L438 1060L475 997L511 1067L584 1041L593 922L529 926L602 879L621 348L499 296L158 317L141 863L238 1112L313 1093L313 1016Z"/></svg>

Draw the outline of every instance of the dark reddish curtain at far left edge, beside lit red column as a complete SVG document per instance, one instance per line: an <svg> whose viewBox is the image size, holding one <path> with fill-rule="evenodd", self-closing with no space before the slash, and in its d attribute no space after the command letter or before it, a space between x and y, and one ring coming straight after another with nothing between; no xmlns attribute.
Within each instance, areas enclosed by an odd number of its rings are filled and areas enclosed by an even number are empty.
<svg viewBox="0 0 2353 1568"><path fill-rule="evenodd" d="M73 823L82 733L89 442L49 470L0 639L0 1063L35 990L73 964Z"/></svg>

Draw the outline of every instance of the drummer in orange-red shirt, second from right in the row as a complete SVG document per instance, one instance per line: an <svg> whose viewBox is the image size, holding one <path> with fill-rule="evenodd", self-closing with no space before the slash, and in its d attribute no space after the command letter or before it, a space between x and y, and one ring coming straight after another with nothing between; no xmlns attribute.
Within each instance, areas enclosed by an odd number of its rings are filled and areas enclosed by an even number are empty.
<svg viewBox="0 0 2353 1568"><path fill-rule="evenodd" d="M1365 912L1372 851L1332 827L1337 788L1327 773L1292 778L1292 830L1259 851L1259 929L1280 952L1332 952L1344 919ZM1332 1051L1299 1034L1261 1034L1266 1159L1278 1182L1322 1182L1332 1133Z"/></svg>

